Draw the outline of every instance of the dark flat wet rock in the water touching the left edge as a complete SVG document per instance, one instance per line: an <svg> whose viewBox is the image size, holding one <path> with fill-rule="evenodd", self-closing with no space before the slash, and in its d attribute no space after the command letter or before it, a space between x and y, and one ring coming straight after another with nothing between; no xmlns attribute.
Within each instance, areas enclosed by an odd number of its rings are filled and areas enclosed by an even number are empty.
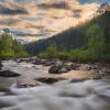
<svg viewBox="0 0 110 110"><path fill-rule="evenodd" d="M0 70L0 77L19 77L20 74L10 70Z"/></svg>

